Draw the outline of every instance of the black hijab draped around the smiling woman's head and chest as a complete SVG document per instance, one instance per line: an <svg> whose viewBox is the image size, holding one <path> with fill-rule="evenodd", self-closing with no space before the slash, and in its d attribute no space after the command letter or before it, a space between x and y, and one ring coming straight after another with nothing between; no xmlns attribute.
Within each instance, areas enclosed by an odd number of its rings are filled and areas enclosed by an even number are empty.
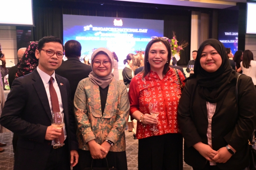
<svg viewBox="0 0 256 170"><path fill-rule="evenodd" d="M220 68L212 73L205 71L200 64L201 54L206 45L214 47L222 58ZM217 103L226 96L230 87L235 85L235 72L230 66L224 45L218 40L208 39L200 45L194 65L194 75L188 79L196 79L200 86L198 92L202 98L210 103Z"/></svg>

